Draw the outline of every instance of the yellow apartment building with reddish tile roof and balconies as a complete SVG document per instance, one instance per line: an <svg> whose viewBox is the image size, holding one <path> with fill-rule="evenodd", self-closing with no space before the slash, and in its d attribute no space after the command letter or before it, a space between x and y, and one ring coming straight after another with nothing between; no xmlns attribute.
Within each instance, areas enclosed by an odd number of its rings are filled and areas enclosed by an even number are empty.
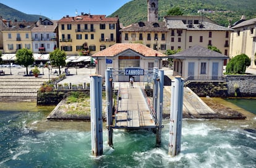
<svg viewBox="0 0 256 168"><path fill-rule="evenodd" d="M83 14L58 21L59 48L67 55L92 55L119 42L119 18Z"/></svg>

